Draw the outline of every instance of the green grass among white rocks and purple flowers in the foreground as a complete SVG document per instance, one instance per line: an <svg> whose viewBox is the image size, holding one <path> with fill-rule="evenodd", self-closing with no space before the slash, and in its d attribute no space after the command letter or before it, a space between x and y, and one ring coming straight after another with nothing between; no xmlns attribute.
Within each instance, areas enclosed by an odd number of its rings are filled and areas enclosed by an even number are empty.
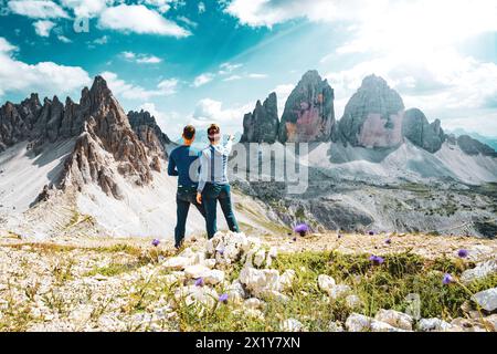
<svg viewBox="0 0 497 354"><path fill-rule="evenodd" d="M369 256L345 256L336 252L302 252L279 254L273 268L281 272L296 271L292 289L286 293L290 301L266 302L265 320L240 315L236 306L219 305L199 316L194 306L178 310L182 331L278 331L279 323L288 317L305 323L309 331L327 331L330 321L345 322L350 313L359 312L373 316L380 309L406 311L408 295L415 293L421 299L422 317L453 319L462 316L461 305L470 293L497 285L497 275L477 281L467 289L457 283L442 284L445 272L458 275L470 266L462 261L442 258L427 261L419 256L402 253L385 257L383 264L371 266ZM236 272L236 270L235 270ZM328 274L338 283L352 288L363 305L348 309L343 300L327 301L318 289L319 274ZM230 277L235 278L235 277ZM468 291L470 293L468 293Z"/></svg>

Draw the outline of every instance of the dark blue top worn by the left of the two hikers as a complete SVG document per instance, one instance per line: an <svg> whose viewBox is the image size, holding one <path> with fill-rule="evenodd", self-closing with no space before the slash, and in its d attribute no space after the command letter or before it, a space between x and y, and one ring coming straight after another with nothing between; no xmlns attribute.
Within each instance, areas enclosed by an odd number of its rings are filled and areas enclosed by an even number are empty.
<svg viewBox="0 0 497 354"><path fill-rule="evenodd" d="M201 152L191 147L182 145L172 150L169 156L168 175L178 176L178 187L195 187L198 185L198 158ZM195 164L192 168L190 166ZM194 176L190 176L190 169L194 171ZM190 177L194 178L192 180Z"/></svg>

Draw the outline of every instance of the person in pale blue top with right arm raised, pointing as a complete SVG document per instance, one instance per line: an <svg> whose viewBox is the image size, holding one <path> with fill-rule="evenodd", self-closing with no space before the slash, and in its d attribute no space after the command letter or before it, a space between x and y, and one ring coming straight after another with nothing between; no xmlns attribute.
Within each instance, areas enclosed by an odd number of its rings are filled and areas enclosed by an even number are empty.
<svg viewBox="0 0 497 354"><path fill-rule="evenodd" d="M210 145L202 150L200 156L197 202L203 204L205 207L207 231L209 239L211 239L218 231L218 201L221 205L221 210L230 230L239 232L239 225L233 214L230 183L228 180L228 157L233 145L233 136L230 135L228 143L223 146L221 144L221 131L218 125L212 124L208 128L208 137Z"/></svg>

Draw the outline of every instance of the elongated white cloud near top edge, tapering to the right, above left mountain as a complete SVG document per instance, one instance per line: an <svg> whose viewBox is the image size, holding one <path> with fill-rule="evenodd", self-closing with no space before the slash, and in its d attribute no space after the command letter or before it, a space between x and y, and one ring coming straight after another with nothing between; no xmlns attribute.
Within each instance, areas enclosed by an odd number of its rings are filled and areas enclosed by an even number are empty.
<svg viewBox="0 0 497 354"><path fill-rule="evenodd" d="M103 29L158 35L188 37L191 33L142 4L119 4L103 10L98 20Z"/></svg>

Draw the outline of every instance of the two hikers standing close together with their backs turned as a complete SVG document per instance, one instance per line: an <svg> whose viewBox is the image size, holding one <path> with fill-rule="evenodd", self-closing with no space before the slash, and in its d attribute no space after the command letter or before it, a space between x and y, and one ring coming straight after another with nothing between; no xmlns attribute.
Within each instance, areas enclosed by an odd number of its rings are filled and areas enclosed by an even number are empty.
<svg viewBox="0 0 497 354"><path fill-rule="evenodd" d="M218 231L218 201L230 230L239 232L228 180L228 158L233 145L233 136L230 135L228 143L223 145L220 127L212 124L208 128L210 144L202 152L191 146L195 138L195 128L192 125L184 127L182 137L183 145L172 150L168 166L168 175L178 176L175 229L175 247L177 249L181 247L184 239L184 226L190 205L194 205L205 218L209 239L214 237Z"/></svg>

